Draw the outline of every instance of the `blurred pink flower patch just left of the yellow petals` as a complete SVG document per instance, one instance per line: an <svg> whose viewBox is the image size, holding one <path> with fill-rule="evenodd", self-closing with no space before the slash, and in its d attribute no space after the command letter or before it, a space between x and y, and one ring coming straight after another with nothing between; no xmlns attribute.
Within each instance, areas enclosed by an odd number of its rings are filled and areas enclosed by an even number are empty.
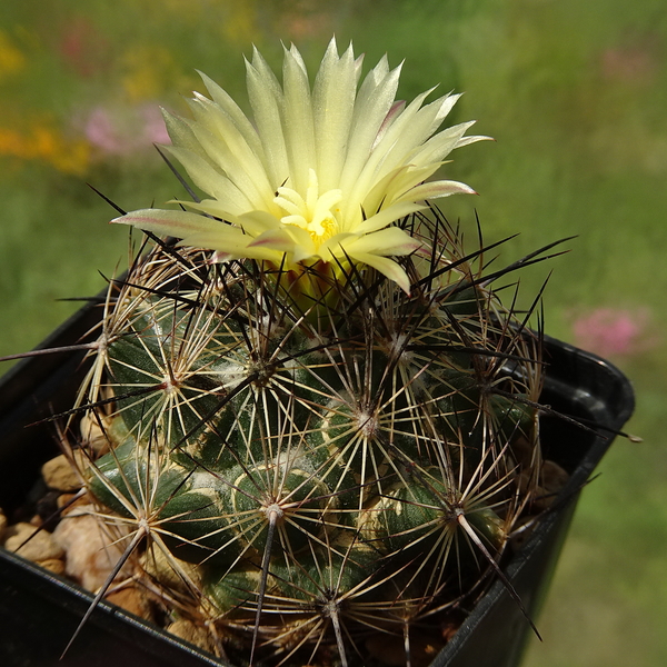
<svg viewBox="0 0 667 667"><path fill-rule="evenodd" d="M83 121L88 141L111 156L128 156L169 143L169 135L160 110L155 104L113 110L96 107Z"/></svg>

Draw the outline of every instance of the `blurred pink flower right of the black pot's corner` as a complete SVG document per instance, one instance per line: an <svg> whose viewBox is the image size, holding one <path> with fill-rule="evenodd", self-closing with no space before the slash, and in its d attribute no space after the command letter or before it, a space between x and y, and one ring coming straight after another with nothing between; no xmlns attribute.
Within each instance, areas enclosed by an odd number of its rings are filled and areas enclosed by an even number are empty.
<svg viewBox="0 0 667 667"><path fill-rule="evenodd" d="M601 357L627 357L655 345L647 337L647 309L597 308L573 322L575 344Z"/></svg>

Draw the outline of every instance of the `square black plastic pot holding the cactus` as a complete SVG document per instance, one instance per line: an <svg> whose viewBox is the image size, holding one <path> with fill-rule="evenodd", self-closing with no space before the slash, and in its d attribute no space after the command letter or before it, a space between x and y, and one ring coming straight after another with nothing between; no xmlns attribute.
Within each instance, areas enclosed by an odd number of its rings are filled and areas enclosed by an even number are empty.
<svg viewBox="0 0 667 667"><path fill-rule="evenodd" d="M82 308L40 347L79 342L100 319ZM548 588L579 489L634 407L628 380L607 361L568 345L546 340L548 364L541 402L584 420L588 429L556 416L542 417L545 456L570 479L548 514L507 565L507 576L535 617ZM16 512L39 497L39 468L58 454L54 429L41 424L67 410L82 376L84 352L62 352L18 364L0 380L0 507ZM594 428L594 430L590 430ZM102 603L67 655L63 648L92 596L22 558L0 549L0 665L4 667L202 667L222 665L132 615ZM497 581L478 603L431 667L516 667L528 635L516 601Z"/></svg>

